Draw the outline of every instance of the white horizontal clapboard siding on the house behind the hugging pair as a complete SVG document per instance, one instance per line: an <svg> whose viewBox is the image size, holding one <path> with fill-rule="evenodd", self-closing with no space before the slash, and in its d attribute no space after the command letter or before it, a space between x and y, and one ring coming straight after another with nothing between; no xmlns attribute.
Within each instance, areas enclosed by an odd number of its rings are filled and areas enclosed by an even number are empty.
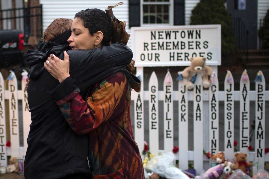
<svg viewBox="0 0 269 179"><path fill-rule="evenodd" d="M7 0L6 0L7 1ZM9 2L9 1L7 1ZM120 21L126 21L126 31L131 33L129 28L129 2L128 0L111 1L111 0L40 0L40 4L43 6L43 30L55 19L55 18L70 18L73 19L76 12L86 8L99 8L105 10L109 5L115 5L118 2L124 2L123 5L113 8L114 15ZM185 0L185 25L190 24L190 17L192 15L193 8L200 2L200 0ZM3 6L3 4L2 4ZM269 8L269 0L258 0L258 23L257 29L260 26L260 19L263 19ZM131 48L132 35L130 36L128 46Z"/></svg>

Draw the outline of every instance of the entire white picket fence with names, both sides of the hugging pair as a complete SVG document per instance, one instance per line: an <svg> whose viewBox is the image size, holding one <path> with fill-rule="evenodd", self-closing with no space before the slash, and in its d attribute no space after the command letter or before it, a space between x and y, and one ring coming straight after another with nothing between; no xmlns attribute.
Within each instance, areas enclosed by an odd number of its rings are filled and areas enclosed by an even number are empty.
<svg viewBox="0 0 269 179"><path fill-rule="evenodd" d="M238 151L247 153L249 161L257 162L258 169L264 168L264 162L269 162L269 153L265 154L265 103L269 101L269 92L265 91L265 79L262 72L257 75L255 91L250 91L250 82L246 72L241 76L240 91L234 91L234 80L232 73L227 72L224 84L224 91L218 90L218 78L212 79L211 86L203 90L201 77L198 75L195 87L192 91L185 88L186 79L178 81L178 91L173 90L173 79L170 72L167 72L163 91L159 91L158 79L153 72L149 79L149 91L144 91L143 72L137 68L139 76L142 77L141 91L132 92L131 99L134 104L131 110L134 112L134 134L142 154L144 149L145 135L148 135L150 152L156 156L159 151L171 152L174 148L175 139L178 140L179 152L175 157L179 160L179 168L187 169L188 163L192 161L197 173L209 166L209 160L203 154L203 150L211 154L219 152L219 138L224 139L224 152L227 159L234 159L234 103L240 101L240 139L238 141ZM140 70L140 71L139 71ZM17 78L14 72L10 72L7 79L3 79L0 73L0 162L7 165L7 156L25 156L27 149L27 136L31 115L27 103L27 92L25 90L25 78L27 72L22 73L21 89L18 90ZM18 100L22 100L22 120L23 120L23 146L20 146L19 131L19 106ZM219 107L219 101L224 102L223 109ZM255 106L250 106L250 102L255 101ZM159 102L163 102L163 108L159 107ZM174 103L178 103L178 109L173 108ZM148 104L148 106L145 106ZM190 104L193 104L190 107ZM144 111L148 107L149 111ZM250 135L250 108L255 108L255 151L249 152ZM191 111L190 111L191 110ZM8 111L8 112L7 112ZM178 111L175 115L174 111ZM224 132L220 134L219 113L224 112ZM163 112L163 119L159 113ZM148 113L148 116L145 114ZM190 115L193 114L193 117ZM267 113L268 114L268 113ZM161 115L162 116L162 115ZM178 116L175 118L174 116ZM268 118L268 117L267 117ZM188 121L193 120L193 150L188 149L189 126ZM159 124L163 121L163 124ZM145 123L148 129L145 129ZM178 126L174 125L177 123ZM161 126L161 127L160 127ZM161 129L163 128L163 129ZM145 133L148 131L148 134ZM160 131L163 134L160 134ZM175 135L177 134L177 135ZM160 136L164 136L161 139ZM7 147L10 140L11 146ZM159 147L159 141L163 141L163 148ZM144 158L144 156L142 156Z"/></svg>

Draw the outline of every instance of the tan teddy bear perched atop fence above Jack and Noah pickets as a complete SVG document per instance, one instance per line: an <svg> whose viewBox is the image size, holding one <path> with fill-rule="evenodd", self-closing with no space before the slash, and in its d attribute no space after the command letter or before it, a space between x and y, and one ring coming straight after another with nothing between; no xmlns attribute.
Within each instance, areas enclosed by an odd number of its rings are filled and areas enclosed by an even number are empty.
<svg viewBox="0 0 269 179"><path fill-rule="evenodd" d="M194 85L192 82L193 78L196 78L196 74L200 74L202 77L202 85L204 88L208 88L210 85L210 81L208 80L208 76L211 76L213 73L213 68L205 65L206 58L204 57L195 57L190 58L191 65L186 67L182 71L182 77L187 78L186 87L187 89L193 89ZM195 81L195 80L194 80Z"/></svg>

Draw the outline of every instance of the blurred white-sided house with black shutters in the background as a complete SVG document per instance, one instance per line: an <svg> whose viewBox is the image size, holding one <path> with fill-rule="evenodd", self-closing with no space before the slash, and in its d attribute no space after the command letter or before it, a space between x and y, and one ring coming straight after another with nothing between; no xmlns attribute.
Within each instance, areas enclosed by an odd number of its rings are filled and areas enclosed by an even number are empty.
<svg viewBox="0 0 269 179"><path fill-rule="evenodd" d="M203 1L203 0L202 0ZM217 0L208 0L212 3ZM55 18L74 18L76 12L86 8L105 10L118 1L72 0L1 0L0 29L19 29L25 37L36 39ZM121 21L127 22L127 31L134 26L189 25L193 8L200 0L123 0L123 5L113 9ZM269 9L267 0L226 0L231 14L238 48L260 49L258 30L263 25ZM31 26L30 32L28 27ZM247 35L246 35L247 34ZM246 41L247 38L247 41ZM131 45L131 39L129 46Z"/></svg>

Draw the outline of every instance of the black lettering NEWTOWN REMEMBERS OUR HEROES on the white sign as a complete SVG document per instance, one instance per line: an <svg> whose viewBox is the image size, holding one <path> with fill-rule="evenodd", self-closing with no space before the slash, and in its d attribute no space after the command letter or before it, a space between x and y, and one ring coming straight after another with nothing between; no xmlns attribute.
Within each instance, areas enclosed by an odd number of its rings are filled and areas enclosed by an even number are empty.
<svg viewBox="0 0 269 179"><path fill-rule="evenodd" d="M185 39L188 39L187 41ZM202 56L208 60L212 59L212 52L204 52L208 49L209 42L201 41L201 30L186 31L151 31L150 40L144 42L144 51L162 51L162 50L197 50L195 52L170 52L170 61L189 61L190 57ZM142 53L140 60L160 61L159 53Z"/></svg>

